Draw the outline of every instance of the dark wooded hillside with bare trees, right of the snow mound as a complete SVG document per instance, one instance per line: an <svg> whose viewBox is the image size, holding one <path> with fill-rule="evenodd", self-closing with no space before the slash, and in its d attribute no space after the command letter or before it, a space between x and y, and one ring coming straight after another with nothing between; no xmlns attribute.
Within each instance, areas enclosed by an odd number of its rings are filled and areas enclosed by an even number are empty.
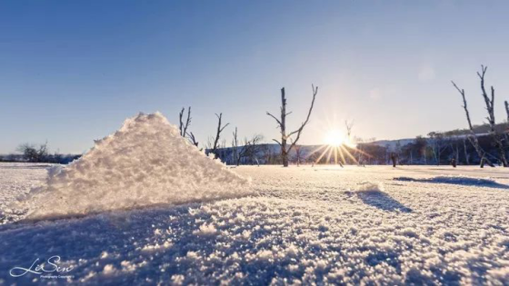
<svg viewBox="0 0 509 286"><path fill-rule="evenodd" d="M463 89L456 84L454 87L462 95L464 113L466 115L468 129L458 129L449 132L432 132L427 137L417 136L411 143L385 146L381 143L374 143L372 140L352 140L353 122L345 122L346 133L350 142L355 146L343 145L341 163L344 164L387 164L396 157L399 164L484 164L494 166L500 164L508 166L509 149L509 125L507 122L496 123L494 118L494 87L489 92L484 87L484 77L487 67L482 66L481 72L477 73L481 81L481 94L484 98L485 110L487 112L487 123L474 125L470 118L469 109ZM226 140L221 135L229 123L223 123L223 113L215 114L217 117L217 128L215 136L209 137L205 143L205 153L214 153L216 159L232 164L282 164L289 163L320 164L337 163L330 155L314 152L320 146L303 146L298 140L303 133L305 125L310 120L313 111L314 100L318 87L313 87L313 97L305 120L299 128L288 131L286 116L291 112L286 111L287 99L284 88L281 89L281 106L278 116L266 113L277 123L281 133L281 139L274 139L277 144L262 143L263 136L255 134L250 138L245 137L244 141L239 140L238 130L235 127L231 146L226 145ZM509 122L509 104L504 102L504 109ZM187 109L187 119L184 120L185 108L179 113L180 133L190 143L198 147L195 135L188 132L191 123L191 107ZM203 150L204 148L202 148Z"/></svg>

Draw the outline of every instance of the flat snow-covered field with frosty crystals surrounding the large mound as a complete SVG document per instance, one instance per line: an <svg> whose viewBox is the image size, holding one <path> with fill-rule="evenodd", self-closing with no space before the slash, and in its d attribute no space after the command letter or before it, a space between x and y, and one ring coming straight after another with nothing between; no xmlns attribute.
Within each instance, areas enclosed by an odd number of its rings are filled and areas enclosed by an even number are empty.
<svg viewBox="0 0 509 286"><path fill-rule="evenodd" d="M503 168L242 166L254 194L240 198L7 217L48 168L0 163L0 284L509 283ZM61 272L10 275L36 259Z"/></svg>

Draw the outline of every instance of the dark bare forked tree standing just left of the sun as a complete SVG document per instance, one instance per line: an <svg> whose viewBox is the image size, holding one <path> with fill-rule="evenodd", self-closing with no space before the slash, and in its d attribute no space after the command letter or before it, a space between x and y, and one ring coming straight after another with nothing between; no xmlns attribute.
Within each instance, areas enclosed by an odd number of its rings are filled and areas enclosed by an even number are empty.
<svg viewBox="0 0 509 286"><path fill-rule="evenodd" d="M295 144L299 141L299 138L301 137L301 133L304 130L304 126L309 122L309 116L311 115L311 112L313 111L314 99L316 98L316 94L318 94L318 86L316 86L316 88L315 88L314 85L312 84L311 87L313 89L313 100L311 101L311 106L309 107L309 111L307 113L304 123L302 123L301 126L294 132L286 133L286 115L290 114L291 112L286 113L286 97L284 97L284 87L281 89L281 107L280 107L281 115L280 115L280 118L278 119L273 114L267 112L267 115L274 118L275 122L278 124L280 131L281 131L281 142L277 141L276 139L273 139L273 140L275 143L278 143L279 146L281 147L281 159L283 161L284 167L288 167L288 153L290 153L290 151L292 151ZM286 146L287 140L294 134L296 134L295 139L290 144L290 147L287 148L287 146Z"/></svg>

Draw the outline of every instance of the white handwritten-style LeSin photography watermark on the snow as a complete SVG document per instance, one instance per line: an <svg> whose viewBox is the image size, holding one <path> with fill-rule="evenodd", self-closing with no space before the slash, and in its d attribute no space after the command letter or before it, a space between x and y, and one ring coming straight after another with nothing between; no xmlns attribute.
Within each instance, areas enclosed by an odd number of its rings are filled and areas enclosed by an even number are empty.
<svg viewBox="0 0 509 286"><path fill-rule="evenodd" d="M36 275L40 275L41 278L72 278L74 275L62 275L74 269L73 266L62 267L59 265L60 256L54 255L48 258L46 261L40 261L40 259L36 259L30 267L25 268L21 266L16 266L9 271L12 277L22 277L27 273L33 273Z"/></svg>

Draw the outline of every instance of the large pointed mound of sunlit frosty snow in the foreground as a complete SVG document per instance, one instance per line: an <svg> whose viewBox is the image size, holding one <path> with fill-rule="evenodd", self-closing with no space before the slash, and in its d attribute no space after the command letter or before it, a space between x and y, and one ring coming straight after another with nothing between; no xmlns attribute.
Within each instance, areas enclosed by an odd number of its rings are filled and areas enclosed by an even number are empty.
<svg viewBox="0 0 509 286"><path fill-rule="evenodd" d="M188 143L161 113L127 119L116 133L29 194L28 219L238 197L248 180Z"/></svg>

